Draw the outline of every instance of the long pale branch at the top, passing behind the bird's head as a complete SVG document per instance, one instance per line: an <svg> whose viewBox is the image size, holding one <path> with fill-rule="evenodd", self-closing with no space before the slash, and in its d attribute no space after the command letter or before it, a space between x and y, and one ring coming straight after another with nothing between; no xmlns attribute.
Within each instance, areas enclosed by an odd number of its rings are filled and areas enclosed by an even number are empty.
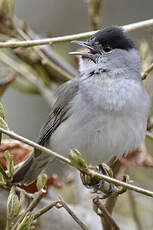
<svg viewBox="0 0 153 230"><path fill-rule="evenodd" d="M147 28L153 25L153 19L148 19L141 22L131 23L128 25L122 26L125 32L131 32L138 29ZM78 39L86 39L93 35L96 31L90 31L85 33L66 35L54 38L46 38L46 39L38 39L38 40L29 40L29 41L8 41L8 42L0 42L0 48L17 48L17 47L31 47L31 46L40 46L46 44L55 44L60 42L69 42L72 40Z"/></svg>

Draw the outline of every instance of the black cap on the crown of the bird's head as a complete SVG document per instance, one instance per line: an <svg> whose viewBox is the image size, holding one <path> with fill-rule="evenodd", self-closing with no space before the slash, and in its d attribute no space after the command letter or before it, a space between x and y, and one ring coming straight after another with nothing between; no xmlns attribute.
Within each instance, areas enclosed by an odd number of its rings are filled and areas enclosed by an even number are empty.
<svg viewBox="0 0 153 230"><path fill-rule="evenodd" d="M109 46L112 49L129 50L135 47L134 42L128 38L121 27L110 26L95 33L90 42L98 42L102 47Z"/></svg>

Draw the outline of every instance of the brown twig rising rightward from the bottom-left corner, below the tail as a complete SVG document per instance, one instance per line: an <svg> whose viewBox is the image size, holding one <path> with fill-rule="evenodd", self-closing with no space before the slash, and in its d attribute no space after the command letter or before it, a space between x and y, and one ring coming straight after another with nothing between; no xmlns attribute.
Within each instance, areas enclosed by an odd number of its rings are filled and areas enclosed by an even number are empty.
<svg viewBox="0 0 153 230"><path fill-rule="evenodd" d="M39 203L39 201L42 199L44 192L41 190L39 191L35 198L33 199L33 201L29 204L29 206L27 207L27 209L23 212L23 214L19 217L19 219L17 220L17 222L15 223L15 225L13 226L13 228L11 230L15 230L18 225L22 222L22 220L24 219L24 217L31 212Z"/></svg>

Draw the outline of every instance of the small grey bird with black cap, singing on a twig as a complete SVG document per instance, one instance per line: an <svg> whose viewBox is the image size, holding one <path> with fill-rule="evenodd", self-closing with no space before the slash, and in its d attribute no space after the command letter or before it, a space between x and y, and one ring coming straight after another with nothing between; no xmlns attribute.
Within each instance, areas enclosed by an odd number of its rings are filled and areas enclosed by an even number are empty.
<svg viewBox="0 0 153 230"><path fill-rule="evenodd" d="M122 28L107 27L88 41L73 41L80 75L65 84L37 142L67 156L78 149L92 165L127 155L144 139L150 99L141 80L141 60ZM13 182L29 184L50 157L35 150Z"/></svg>

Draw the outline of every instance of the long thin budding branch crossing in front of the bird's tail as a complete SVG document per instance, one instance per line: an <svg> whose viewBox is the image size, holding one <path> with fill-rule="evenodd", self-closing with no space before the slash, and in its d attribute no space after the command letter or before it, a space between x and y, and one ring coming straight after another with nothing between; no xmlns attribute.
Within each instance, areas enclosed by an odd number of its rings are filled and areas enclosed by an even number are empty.
<svg viewBox="0 0 153 230"><path fill-rule="evenodd" d="M70 159L68 159L68 158L66 158L66 157L64 157L64 156L62 156L62 155L60 155L60 154L58 154L56 152L53 152L52 150L47 149L47 148L45 148L45 147L43 147L43 146L41 146L41 145L39 145L39 144L27 139L25 137L22 137L22 136L14 133L12 131L8 131L8 130L5 130L3 128L0 128L0 132L5 133L6 135L8 135L11 138L14 138L16 140L22 141L23 143L26 143L28 145L31 145L35 149L38 149L38 150L40 150L40 151L42 151L42 152L44 152L44 153L46 153L46 154L48 154L50 156L62 161L62 162L65 162L65 163L67 163L67 164L69 164L69 165L74 167L74 165L71 163ZM149 136L149 138L153 139L152 134L149 133L148 136ZM91 176L92 178L97 178L99 180L106 180L107 182L113 183L113 184L115 184L117 186L121 186L121 187L124 187L126 189L130 189L130 190L133 190L135 192L141 193L143 195L153 197L153 192L152 191L143 189L141 187L138 187L138 186L135 186L135 185L132 185L132 184L128 184L126 182L117 180L117 179L112 178L112 177L108 177L108 176L100 174L100 173L97 173L94 170L91 170L89 168L81 168L81 169L78 168L78 170L83 172L83 173L85 173L85 174L87 174L87 175L89 175L89 176Z"/></svg>

